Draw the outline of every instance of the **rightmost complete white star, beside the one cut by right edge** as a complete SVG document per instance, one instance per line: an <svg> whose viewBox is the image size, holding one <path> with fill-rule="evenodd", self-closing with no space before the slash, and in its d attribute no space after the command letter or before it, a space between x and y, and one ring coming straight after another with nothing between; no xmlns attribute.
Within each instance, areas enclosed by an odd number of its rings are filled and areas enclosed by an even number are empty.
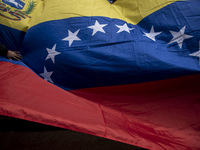
<svg viewBox="0 0 200 150"><path fill-rule="evenodd" d="M175 31L170 31L170 32L173 35L173 39L168 44L177 42L180 48L182 48L183 41L185 39L189 39L189 38L193 37L191 35L184 34L185 26L179 32L175 32Z"/></svg>

